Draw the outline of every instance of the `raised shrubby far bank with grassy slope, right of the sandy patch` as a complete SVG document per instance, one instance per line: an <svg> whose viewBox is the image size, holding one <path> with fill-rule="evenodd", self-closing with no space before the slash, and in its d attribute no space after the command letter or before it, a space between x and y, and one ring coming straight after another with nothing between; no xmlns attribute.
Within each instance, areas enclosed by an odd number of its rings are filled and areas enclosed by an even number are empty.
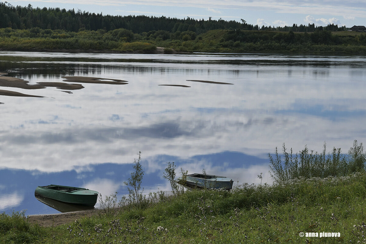
<svg viewBox="0 0 366 244"><path fill-rule="evenodd" d="M366 53L366 34L333 34L327 30L313 33L275 31L209 31L202 41L183 43L187 50L200 47L204 52L236 53ZM209 47L209 48L208 48Z"/></svg>

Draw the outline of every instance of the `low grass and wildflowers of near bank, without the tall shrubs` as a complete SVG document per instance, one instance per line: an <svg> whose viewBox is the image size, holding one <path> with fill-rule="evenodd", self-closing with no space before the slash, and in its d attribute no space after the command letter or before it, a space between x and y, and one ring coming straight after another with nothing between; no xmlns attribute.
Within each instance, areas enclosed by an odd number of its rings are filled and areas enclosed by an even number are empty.
<svg viewBox="0 0 366 244"><path fill-rule="evenodd" d="M21 213L1 214L0 243L365 243L365 186L365 174L356 173L151 195L138 205L48 228Z"/></svg>

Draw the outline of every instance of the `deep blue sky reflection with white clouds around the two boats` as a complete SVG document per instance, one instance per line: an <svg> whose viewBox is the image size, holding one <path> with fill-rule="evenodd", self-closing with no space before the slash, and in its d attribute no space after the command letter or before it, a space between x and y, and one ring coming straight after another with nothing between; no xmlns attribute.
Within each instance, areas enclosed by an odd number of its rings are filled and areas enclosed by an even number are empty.
<svg viewBox="0 0 366 244"><path fill-rule="evenodd" d="M136 155L137 156L137 155ZM142 154L143 156L143 154ZM119 192L119 199L127 195L127 181L133 171L132 159L126 164L100 163L60 172L41 172L20 169L1 169L0 210L10 213L13 209L19 211L27 209L26 214L58 213L57 210L44 206L34 197L34 190L38 185L60 184L66 186L85 187L102 194L103 199L112 193ZM244 155L238 152L224 152L214 155L200 155L190 159L181 159L169 155L158 155L142 159L141 164L145 174L142 180L143 194L158 190L170 192L169 182L163 178L167 162L176 164L177 177L180 168L188 170L190 174L200 173L205 168L208 174L227 176L235 184L260 183L257 175L263 173L262 183L271 183L268 177L268 160ZM14 178L14 176L18 176ZM237 183L238 182L238 183ZM14 191L22 189L22 193ZM96 204L99 207L99 201Z"/></svg>

